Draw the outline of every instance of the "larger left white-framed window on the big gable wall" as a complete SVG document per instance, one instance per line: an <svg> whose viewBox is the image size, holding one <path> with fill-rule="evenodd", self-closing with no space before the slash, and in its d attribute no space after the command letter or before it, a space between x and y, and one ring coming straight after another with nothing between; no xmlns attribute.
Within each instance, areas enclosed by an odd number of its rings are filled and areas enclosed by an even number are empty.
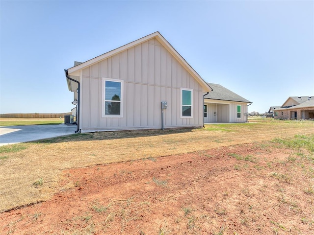
<svg viewBox="0 0 314 235"><path fill-rule="evenodd" d="M121 80L104 80L104 115L105 117L122 117L123 82Z"/></svg>

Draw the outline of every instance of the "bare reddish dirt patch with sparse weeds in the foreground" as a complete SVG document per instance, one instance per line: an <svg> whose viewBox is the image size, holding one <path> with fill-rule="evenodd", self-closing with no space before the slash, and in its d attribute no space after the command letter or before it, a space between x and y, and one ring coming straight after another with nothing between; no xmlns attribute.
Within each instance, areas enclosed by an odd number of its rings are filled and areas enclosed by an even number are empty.
<svg viewBox="0 0 314 235"><path fill-rule="evenodd" d="M314 163L273 143L62 172L51 200L0 214L1 234L314 234Z"/></svg>

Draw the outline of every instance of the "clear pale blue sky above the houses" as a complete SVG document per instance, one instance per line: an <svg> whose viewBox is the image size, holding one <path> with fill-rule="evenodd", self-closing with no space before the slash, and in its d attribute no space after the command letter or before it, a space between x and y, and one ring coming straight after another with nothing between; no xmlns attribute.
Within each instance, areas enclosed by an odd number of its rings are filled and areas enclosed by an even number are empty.
<svg viewBox="0 0 314 235"><path fill-rule="evenodd" d="M64 69L155 31L249 112L314 95L313 0L0 0L0 17L2 114L69 112Z"/></svg>

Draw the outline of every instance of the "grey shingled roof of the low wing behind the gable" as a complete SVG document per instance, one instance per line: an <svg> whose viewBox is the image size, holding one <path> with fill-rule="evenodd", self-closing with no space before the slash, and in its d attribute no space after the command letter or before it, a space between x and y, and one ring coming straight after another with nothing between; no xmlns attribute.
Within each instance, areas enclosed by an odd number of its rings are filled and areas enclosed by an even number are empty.
<svg viewBox="0 0 314 235"><path fill-rule="evenodd" d="M208 83L212 88L212 92L205 95L206 99L217 99L217 100L228 100L228 101L237 101L244 103L252 103L251 101L243 98L242 96L235 94L234 92L228 90L227 88L214 83Z"/></svg>

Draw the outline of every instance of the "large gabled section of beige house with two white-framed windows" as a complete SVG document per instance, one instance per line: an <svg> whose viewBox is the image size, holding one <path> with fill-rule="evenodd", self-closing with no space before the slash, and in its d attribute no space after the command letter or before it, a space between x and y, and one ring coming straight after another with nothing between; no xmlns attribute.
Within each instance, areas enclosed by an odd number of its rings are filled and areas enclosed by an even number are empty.
<svg viewBox="0 0 314 235"><path fill-rule="evenodd" d="M159 32L76 62L65 74L77 132L204 125L203 95L212 89Z"/></svg>

